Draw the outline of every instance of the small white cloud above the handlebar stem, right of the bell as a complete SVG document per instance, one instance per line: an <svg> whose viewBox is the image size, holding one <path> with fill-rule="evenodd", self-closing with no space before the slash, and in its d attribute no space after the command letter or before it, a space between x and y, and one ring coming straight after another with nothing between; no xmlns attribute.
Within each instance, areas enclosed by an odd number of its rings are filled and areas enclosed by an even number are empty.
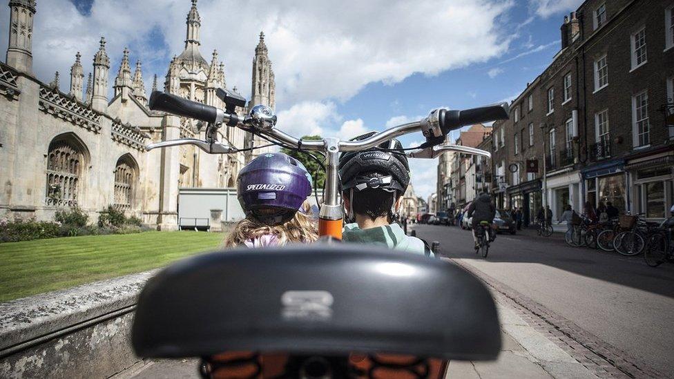
<svg viewBox="0 0 674 379"><path fill-rule="evenodd" d="M332 101L303 101L280 111L277 116L277 127L296 137L323 135L325 128L341 118Z"/></svg>

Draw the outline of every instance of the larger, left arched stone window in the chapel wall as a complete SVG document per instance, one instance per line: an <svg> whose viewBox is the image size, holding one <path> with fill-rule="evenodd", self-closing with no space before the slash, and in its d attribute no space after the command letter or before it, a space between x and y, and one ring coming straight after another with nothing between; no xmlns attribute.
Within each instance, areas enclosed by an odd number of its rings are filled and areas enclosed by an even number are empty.
<svg viewBox="0 0 674 379"><path fill-rule="evenodd" d="M48 206L80 205L86 162L88 150L76 135L66 133L52 139L47 153Z"/></svg>

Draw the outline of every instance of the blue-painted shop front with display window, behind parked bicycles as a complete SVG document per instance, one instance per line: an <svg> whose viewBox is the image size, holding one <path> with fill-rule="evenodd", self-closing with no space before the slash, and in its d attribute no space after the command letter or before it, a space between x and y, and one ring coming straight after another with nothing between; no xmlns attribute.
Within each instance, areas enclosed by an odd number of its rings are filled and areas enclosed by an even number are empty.
<svg viewBox="0 0 674 379"><path fill-rule="evenodd" d="M586 167L581 175L584 180L585 198L595 208L608 202L624 213L628 209L629 187L624 171L624 159L601 162Z"/></svg>

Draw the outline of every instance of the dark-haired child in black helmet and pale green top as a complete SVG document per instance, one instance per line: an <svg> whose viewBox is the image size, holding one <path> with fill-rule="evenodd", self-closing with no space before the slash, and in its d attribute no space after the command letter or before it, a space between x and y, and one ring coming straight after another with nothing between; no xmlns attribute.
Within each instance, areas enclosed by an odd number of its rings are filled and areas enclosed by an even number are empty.
<svg viewBox="0 0 674 379"><path fill-rule="evenodd" d="M354 140L375 134L367 133ZM344 226L342 239L430 255L422 240L405 235L395 222L410 184L410 166L403 146L392 139L379 147L387 151L344 153L339 159L342 199L347 218L352 221Z"/></svg>

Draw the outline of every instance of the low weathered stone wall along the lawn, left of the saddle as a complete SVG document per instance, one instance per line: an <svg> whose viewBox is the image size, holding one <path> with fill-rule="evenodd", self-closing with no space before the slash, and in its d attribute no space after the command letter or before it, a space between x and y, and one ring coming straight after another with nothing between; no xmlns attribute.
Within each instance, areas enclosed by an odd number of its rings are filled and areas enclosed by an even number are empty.
<svg viewBox="0 0 674 379"><path fill-rule="evenodd" d="M0 378L108 378L131 367L133 311L156 272L0 303Z"/></svg>

